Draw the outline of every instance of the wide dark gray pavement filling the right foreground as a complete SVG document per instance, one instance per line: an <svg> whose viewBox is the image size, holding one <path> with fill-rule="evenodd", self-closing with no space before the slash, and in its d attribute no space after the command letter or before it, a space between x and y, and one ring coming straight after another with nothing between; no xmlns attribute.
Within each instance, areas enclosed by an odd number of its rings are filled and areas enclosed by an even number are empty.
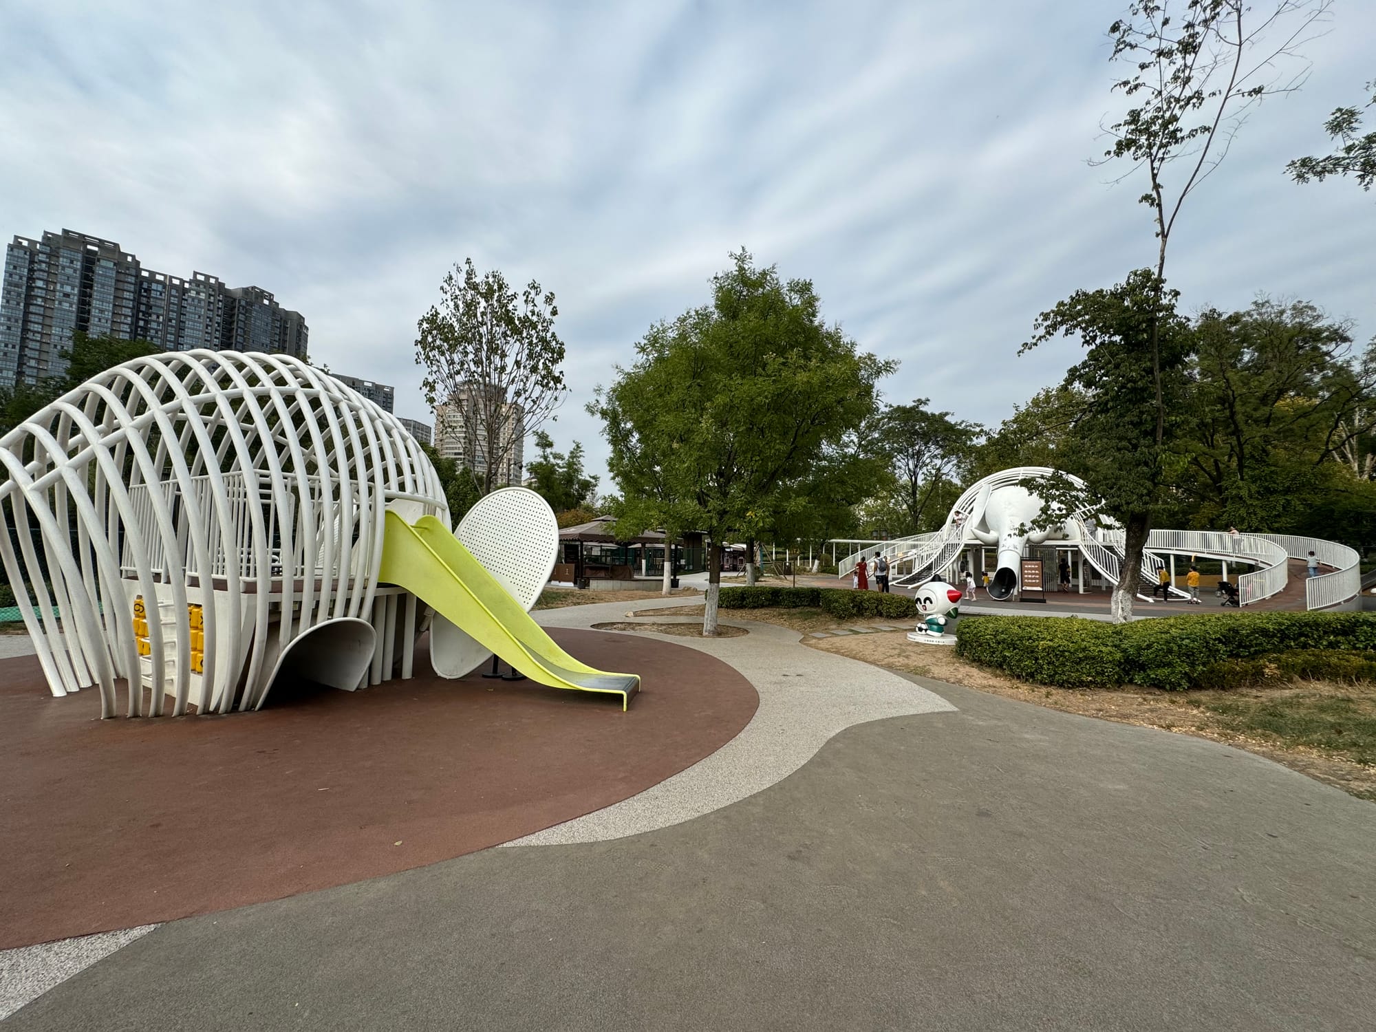
<svg viewBox="0 0 1376 1032"><path fill-rule="evenodd" d="M172 922L11 1026L1372 1028L1376 808L925 687L714 813Z"/></svg>

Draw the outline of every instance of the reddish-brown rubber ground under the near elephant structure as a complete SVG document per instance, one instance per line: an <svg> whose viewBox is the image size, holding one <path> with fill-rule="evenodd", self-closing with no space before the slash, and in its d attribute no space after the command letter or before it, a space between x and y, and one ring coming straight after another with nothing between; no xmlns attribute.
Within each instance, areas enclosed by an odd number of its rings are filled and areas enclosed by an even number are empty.
<svg viewBox="0 0 1376 1032"><path fill-rule="evenodd" d="M392 874L619 802L732 739L754 688L684 645L552 630L643 691L418 676L260 713L99 720L0 660L0 948ZM279 685L281 688L281 685ZM122 692L121 692L122 695Z"/></svg>

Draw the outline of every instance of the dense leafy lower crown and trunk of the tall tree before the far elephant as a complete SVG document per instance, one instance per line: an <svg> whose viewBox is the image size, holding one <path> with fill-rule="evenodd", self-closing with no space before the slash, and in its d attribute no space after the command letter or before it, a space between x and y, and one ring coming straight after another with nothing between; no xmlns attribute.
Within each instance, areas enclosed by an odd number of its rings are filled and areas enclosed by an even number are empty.
<svg viewBox="0 0 1376 1032"><path fill-rule="evenodd" d="M1113 589L1115 621L1132 616L1137 571L1153 517L1172 506L1170 449L1186 396L1193 333L1175 311L1175 290L1146 268L1108 290L1079 290L1042 312L1022 351L1054 337L1076 337L1084 361L1065 374L1066 399L1077 399L1060 449L1061 469L1084 479L1088 493L1062 477L1042 484L1053 522L1088 506L1123 524L1123 575ZM1020 352L1021 354L1021 352ZM1168 417L1160 421L1160 403Z"/></svg>

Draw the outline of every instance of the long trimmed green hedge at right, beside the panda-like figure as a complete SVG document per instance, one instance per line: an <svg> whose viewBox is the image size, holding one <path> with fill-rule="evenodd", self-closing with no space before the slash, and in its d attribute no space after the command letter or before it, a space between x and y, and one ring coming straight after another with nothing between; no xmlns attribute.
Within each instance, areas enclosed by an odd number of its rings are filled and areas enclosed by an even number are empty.
<svg viewBox="0 0 1376 1032"><path fill-rule="evenodd" d="M1039 684L1138 684L1182 691L1229 659L1293 649L1376 649L1376 616L1258 612L1102 623L1057 616L976 616L956 625L956 655Z"/></svg>

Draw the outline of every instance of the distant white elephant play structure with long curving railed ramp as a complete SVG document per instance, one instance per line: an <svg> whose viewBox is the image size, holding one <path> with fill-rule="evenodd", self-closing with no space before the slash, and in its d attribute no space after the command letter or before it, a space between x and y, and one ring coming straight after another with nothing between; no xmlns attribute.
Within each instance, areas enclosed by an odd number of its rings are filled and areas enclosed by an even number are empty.
<svg viewBox="0 0 1376 1032"><path fill-rule="evenodd" d="M988 594L995 601L1015 599L1020 590L1021 559L1028 546L1049 545L1077 550L1083 563L1106 583L1117 583L1123 563L1123 530L1110 522L1094 520L1090 508L1068 512L1065 517L1039 526L1042 498L1038 482L1055 475L1047 466L1004 469L971 484L951 506L943 527L896 541L871 542L838 563L838 577L849 577L860 559L885 556L894 586L921 585L937 577L949 577L970 548L992 548L995 568ZM1069 483L1086 490L1079 477L1060 473ZM1306 605L1310 610L1351 604L1361 590L1359 556L1346 545L1321 538L1284 534L1241 534L1222 531L1153 530L1142 556L1141 578L1157 582L1157 574L1171 556L1219 559L1245 564L1251 572L1236 578L1241 603L1259 601L1282 590L1289 578L1291 559L1314 552L1328 572L1306 581ZM1185 592L1171 589L1176 596Z"/></svg>

